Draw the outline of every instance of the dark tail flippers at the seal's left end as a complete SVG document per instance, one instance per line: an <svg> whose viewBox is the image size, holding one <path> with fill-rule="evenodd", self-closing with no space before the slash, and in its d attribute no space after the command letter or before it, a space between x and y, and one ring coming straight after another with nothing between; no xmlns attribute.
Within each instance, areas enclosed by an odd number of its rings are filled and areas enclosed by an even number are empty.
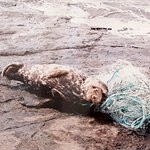
<svg viewBox="0 0 150 150"><path fill-rule="evenodd" d="M23 64L9 64L6 66L2 71L2 76L7 77L8 79L14 79L15 75L17 75L17 72L19 69L23 67Z"/></svg>

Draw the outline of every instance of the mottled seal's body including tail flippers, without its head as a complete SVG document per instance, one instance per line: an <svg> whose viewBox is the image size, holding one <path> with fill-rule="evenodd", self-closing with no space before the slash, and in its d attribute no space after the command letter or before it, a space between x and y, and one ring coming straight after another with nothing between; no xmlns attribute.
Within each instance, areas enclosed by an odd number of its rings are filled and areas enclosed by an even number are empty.
<svg viewBox="0 0 150 150"><path fill-rule="evenodd" d="M67 101L81 99L80 86L85 79L79 71L58 64L12 64L4 69L3 76L27 84L37 95L60 96Z"/></svg>

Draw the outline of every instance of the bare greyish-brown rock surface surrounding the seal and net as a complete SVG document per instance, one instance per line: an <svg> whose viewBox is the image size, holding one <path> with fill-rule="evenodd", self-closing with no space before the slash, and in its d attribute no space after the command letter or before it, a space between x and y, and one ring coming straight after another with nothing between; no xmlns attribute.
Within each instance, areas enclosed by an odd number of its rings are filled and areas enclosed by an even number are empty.
<svg viewBox="0 0 150 150"><path fill-rule="evenodd" d="M149 73L149 7L149 0L0 0L0 72L12 62L59 63L91 75L125 59ZM149 135L104 116L22 101L46 99L0 77L0 150L150 149Z"/></svg>

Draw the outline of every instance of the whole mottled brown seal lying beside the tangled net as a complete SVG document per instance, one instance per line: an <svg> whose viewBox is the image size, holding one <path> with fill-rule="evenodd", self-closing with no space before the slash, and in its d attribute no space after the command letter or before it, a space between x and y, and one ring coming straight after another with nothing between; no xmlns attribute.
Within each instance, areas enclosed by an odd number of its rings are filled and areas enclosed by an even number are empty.
<svg viewBox="0 0 150 150"><path fill-rule="evenodd" d="M100 80L59 64L13 63L3 69L2 76L23 82L37 95L61 98L65 101L87 101L97 104L108 91L107 86Z"/></svg>

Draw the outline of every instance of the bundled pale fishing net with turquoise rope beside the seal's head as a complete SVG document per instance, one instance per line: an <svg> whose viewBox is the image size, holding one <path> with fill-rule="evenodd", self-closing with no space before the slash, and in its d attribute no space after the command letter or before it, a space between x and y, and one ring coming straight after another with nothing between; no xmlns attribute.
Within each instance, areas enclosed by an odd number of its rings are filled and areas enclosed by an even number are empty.
<svg viewBox="0 0 150 150"><path fill-rule="evenodd" d="M126 61L112 65L110 70L105 81L108 98L100 111L127 128L142 129L150 123L150 80ZM100 75L100 78L105 76Z"/></svg>

